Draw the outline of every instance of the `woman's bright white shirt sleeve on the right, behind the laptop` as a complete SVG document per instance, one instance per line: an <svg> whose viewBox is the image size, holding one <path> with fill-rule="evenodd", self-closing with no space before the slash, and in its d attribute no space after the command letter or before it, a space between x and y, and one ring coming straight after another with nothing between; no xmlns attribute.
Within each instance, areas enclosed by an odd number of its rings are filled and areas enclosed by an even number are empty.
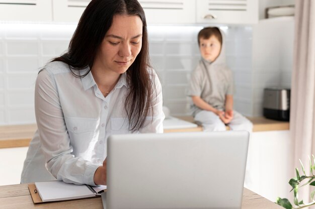
<svg viewBox="0 0 315 209"><path fill-rule="evenodd" d="M163 113L163 95L162 85L155 71L152 70L152 109L148 112L144 124L139 129L139 133L163 133L163 121L165 115ZM152 111L153 110L153 116Z"/></svg>

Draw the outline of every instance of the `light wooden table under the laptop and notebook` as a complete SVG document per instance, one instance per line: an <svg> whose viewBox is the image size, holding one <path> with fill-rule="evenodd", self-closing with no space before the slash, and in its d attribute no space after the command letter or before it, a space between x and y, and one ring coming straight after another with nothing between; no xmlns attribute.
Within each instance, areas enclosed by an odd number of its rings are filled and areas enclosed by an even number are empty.
<svg viewBox="0 0 315 209"><path fill-rule="evenodd" d="M29 208L99 208L102 209L102 199L100 197L77 199L59 202L46 202L34 204L27 184L15 184L0 186L0 208L15 208L15 209L29 209ZM243 209L283 209L283 207L268 199L244 188L243 193Z"/></svg>

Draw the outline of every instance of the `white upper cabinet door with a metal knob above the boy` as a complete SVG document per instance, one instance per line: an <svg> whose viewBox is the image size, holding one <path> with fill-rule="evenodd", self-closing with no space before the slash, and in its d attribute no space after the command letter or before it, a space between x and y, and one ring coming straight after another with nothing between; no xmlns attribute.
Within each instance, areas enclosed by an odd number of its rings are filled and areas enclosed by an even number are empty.
<svg viewBox="0 0 315 209"><path fill-rule="evenodd" d="M258 0L197 0L196 7L197 23L258 23Z"/></svg>

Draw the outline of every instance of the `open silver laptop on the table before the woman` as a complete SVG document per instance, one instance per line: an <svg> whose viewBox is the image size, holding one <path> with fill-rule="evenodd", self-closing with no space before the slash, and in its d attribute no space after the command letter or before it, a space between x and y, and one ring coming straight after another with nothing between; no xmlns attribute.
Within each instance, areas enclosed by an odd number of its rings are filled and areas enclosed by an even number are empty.
<svg viewBox="0 0 315 209"><path fill-rule="evenodd" d="M112 135L107 209L241 208L246 131Z"/></svg>

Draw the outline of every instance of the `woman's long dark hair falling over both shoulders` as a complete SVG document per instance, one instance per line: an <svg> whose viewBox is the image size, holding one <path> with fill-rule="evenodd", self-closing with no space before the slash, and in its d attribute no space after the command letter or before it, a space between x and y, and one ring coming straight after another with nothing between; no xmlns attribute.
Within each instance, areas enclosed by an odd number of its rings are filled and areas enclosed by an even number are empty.
<svg viewBox="0 0 315 209"><path fill-rule="evenodd" d="M114 15L138 16L142 21L142 47L126 71L127 82L130 86L125 101L125 110L129 120L129 130L132 132L142 127L145 117L152 109L153 88L151 66L148 57L148 40L144 11L137 0L92 0L84 11L72 39L68 51L53 61L62 61L69 65L75 77L84 77L80 70L93 66L98 49L105 34L112 25ZM74 71L78 71L75 73Z"/></svg>

